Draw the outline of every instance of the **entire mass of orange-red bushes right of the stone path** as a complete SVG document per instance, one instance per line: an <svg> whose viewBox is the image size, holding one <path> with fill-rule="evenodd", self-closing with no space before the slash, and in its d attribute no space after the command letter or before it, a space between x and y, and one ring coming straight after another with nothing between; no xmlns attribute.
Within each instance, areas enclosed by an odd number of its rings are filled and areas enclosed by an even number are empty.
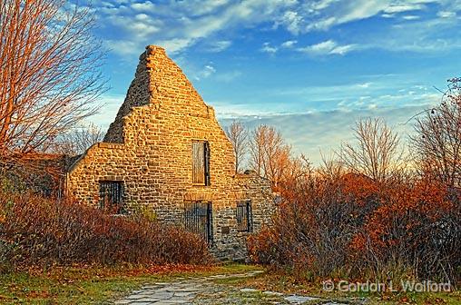
<svg viewBox="0 0 461 305"><path fill-rule="evenodd" d="M313 175L283 196L273 225L249 238L253 261L309 278L459 277L456 191L427 181L379 184L349 173Z"/></svg>

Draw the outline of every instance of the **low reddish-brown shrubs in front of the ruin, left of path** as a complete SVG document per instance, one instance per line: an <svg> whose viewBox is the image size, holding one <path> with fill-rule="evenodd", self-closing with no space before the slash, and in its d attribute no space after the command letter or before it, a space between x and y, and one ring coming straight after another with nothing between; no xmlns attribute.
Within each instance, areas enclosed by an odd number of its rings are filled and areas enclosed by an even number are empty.
<svg viewBox="0 0 461 305"><path fill-rule="evenodd" d="M14 266L211 262L206 242L181 228L28 192L0 192L0 241Z"/></svg>

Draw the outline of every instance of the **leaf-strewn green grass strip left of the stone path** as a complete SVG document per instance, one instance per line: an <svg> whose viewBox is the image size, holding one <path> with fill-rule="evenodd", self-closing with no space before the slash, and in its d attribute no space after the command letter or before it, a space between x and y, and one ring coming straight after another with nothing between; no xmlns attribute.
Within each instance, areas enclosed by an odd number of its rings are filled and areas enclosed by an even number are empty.
<svg viewBox="0 0 461 305"><path fill-rule="evenodd" d="M76 266L55 267L48 271L18 271L0 274L0 303L105 304L139 289L145 283L255 270L260 268L229 264L150 268Z"/></svg>

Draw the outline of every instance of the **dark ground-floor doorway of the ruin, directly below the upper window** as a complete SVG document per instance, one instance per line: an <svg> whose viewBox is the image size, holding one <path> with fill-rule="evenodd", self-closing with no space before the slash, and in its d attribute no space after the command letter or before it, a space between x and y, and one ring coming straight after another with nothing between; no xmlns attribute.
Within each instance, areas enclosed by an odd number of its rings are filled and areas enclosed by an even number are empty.
<svg viewBox="0 0 461 305"><path fill-rule="evenodd" d="M205 241L211 243L211 202L186 202L184 208L186 230L201 235Z"/></svg>

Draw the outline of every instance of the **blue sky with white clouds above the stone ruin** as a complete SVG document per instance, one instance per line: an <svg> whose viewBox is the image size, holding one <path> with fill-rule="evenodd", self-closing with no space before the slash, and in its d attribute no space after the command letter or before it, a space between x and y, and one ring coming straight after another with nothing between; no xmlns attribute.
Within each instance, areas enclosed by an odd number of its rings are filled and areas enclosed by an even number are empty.
<svg viewBox="0 0 461 305"><path fill-rule="evenodd" d="M110 49L111 90L95 123L123 103L147 44L166 48L222 124L275 125L319 162L360 117L397 131L459 76L459 0L93 1ZM404 135L405 138L405 135Z"/></svg>

